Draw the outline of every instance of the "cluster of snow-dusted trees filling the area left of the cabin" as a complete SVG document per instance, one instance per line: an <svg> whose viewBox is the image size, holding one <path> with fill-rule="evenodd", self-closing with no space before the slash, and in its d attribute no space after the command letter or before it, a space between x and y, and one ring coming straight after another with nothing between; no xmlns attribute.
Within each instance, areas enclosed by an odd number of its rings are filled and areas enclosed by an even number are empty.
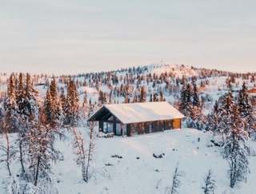
<svg viewBox="0 0 256 194"><path fill-rule="evenodd" d="M0 152L4 152L0 161L6 162L9 172L6 187L10 190L7 192L56 193L51 184L51 166L62 158L55 141L65 138L64 129L74 133L74 148L80 151L77 153L78 164L82 164L83 179L88 181L94 131L92 128L90 152L86 155L86 148L81 143L82 134L74 129L79 121L83 121L84 109L73 79L67 81L66 91L58 94L53 77L42 97L34 89L29 73L20 73L18 77L14 73L10 75L7 97L0 107ZM10 133L15 134L12 141ZM13 171L11 163L17 160L19 169Z"/></svg>

